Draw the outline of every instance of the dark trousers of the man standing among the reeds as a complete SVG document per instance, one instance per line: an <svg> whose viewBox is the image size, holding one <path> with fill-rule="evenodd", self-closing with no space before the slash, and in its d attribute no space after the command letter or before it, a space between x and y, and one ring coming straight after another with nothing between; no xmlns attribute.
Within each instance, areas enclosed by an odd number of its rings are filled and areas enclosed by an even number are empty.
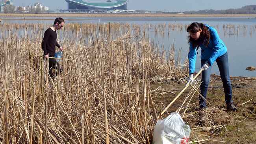
<svg viewBox="0 0 256 144"><path fill-rule="evenodd" d="M49 55L49 57L54 57ZM55 69L54 72L52 72L52 69ZM49 74L52 80L62 72L62 67L59 61L56 61L56 59L49 58Z"/></svg>

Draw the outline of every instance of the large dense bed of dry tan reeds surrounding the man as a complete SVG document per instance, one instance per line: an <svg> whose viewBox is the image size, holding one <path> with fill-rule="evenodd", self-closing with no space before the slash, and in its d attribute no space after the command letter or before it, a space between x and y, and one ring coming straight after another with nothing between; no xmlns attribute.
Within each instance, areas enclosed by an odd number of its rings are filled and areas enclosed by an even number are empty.
<svg viewBox="0 0 256 144"><path fill-rule="evenodd" d="M0 143L150 143L150 81L188 73L174 45L166 52L138 26L67 23L58 43L72 61L52 81L41 50L49 26L1 25Z"/></svg>

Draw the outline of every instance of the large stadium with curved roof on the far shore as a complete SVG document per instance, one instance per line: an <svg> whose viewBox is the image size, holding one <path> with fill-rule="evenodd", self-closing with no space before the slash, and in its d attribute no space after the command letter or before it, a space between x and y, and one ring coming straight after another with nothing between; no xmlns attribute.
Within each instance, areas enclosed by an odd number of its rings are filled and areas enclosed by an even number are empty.
<svg viewBox="0 0 256 144"><path fill-rule="evenodd" d="M77 10L127 10L129 0L106 0L105 2L85 2L85 0L66 0L68 9Z"/></svg>

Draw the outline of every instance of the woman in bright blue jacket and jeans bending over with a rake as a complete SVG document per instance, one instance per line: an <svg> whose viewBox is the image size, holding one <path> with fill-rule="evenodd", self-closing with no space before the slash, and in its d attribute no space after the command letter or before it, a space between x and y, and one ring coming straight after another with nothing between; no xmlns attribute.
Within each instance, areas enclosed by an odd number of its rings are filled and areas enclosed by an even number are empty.
<svg viewBox="0 0 256 144"><path fill-rule="evenodd" d="M203 23L193 22L187 27L189 32L189 79L190 84L193 83L193 73L195 72L195 63L198 47L201 48L201 66L202 84L200 85L200 94L206 99L207 88L210 82L211 67L216 61L221 80L223 82L226 109L236 111L237 108L232 100L232 87L228 70L228 53L223 41L219 38L218 32L213 27L204 25ZM199 108L206 108L206 101L199 96Z"/></svg>

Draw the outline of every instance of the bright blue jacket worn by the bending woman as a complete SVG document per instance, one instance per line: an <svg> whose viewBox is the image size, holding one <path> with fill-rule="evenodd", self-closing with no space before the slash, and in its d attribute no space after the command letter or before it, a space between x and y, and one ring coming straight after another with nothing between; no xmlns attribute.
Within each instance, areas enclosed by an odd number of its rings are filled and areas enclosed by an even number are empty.
<svg viewBox="0 0 256 144"><path fill-rule="evenodd" d="M208 47L206 47L202 44L201 41L199 47L201 48L201 59L208 59L208 63L211 66L219 56L222 56L227 52L227 48L224 45L223 41L219 38L219 34L216 29L208 25L205 26L210 31L210 42ZM189 42L189 74L195 72L196 58L197 47L193 47L193 43Z"/></svg>

